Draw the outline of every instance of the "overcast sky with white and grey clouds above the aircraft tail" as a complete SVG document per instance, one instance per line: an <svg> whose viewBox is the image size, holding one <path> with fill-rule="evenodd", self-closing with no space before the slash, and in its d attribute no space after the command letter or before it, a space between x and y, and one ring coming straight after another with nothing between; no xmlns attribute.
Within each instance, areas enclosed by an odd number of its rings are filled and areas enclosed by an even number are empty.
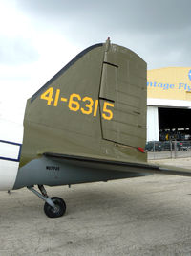
<svg viewBox="0 0 191 256"><path fill-rule="evenodd" d="M0 0L0 122L76 54L111 37L148 69L191 66L191 0Z"/></svg>

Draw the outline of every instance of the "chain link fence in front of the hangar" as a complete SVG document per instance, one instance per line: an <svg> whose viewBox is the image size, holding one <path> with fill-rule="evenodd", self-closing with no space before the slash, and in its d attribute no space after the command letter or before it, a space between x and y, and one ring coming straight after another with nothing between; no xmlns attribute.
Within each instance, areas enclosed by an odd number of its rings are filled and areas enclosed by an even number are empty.
<svg viewBox="0 0 191 256"><path fill-rule="evenodd" d="M191 141L149 141L148 160L191 157Z"/></svg>

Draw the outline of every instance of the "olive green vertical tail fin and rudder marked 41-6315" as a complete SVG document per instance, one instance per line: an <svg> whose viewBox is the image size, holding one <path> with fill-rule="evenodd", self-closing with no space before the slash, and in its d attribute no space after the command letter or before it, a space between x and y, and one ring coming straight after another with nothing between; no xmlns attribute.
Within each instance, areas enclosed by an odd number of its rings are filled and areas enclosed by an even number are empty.
<svg viewBox="0 0 191 256"><path fill-rule="evenodd" d="M45 152L146 161L146 62L93 45L28 100L20 167Z"/></svg>

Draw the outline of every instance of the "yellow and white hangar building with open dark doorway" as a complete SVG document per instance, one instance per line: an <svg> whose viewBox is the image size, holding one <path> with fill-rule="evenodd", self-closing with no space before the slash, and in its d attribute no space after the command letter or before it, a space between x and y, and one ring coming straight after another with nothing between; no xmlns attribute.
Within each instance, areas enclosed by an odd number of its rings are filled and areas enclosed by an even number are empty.
<svg viewBox="0 0 191 256"><path fill-rule="evenodd" d="M191 139L191 67L147 73L147 141Z"/></svg>

